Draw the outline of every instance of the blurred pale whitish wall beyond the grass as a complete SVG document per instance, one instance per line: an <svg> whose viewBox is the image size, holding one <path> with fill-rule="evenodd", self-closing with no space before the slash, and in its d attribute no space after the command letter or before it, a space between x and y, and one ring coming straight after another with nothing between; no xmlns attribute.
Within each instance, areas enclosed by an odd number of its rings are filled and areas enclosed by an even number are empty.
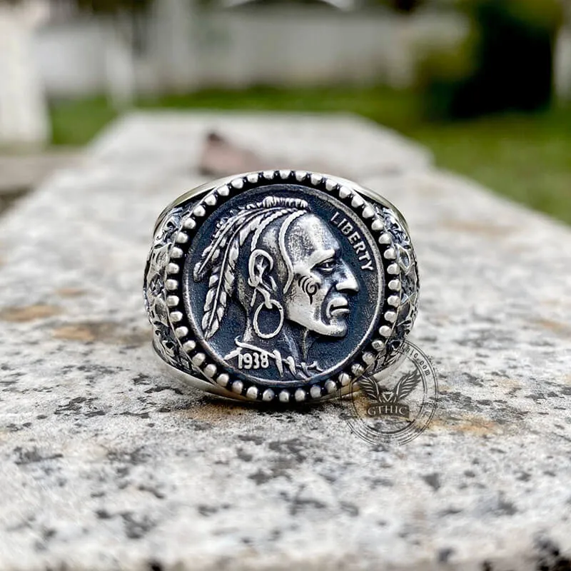
<svg viewBox="0 0 571 571"><path fill-rule="evenodd" d="M157 3L146 53L133 62L139 91L343 82L405 87L415 76L418 44L450 44L466 30L462 18L433 12L407 17L268 6L200 13L191 6ZM41 29L36 54L49 94L108 91L108 37L96 19Z"/></svg>

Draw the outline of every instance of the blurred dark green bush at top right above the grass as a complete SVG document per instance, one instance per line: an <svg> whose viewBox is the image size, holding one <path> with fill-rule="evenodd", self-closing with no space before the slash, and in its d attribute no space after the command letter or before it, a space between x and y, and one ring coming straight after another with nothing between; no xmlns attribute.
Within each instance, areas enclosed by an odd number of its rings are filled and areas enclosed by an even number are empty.
<svg viewBox="0 0 571 571"><path fill-rule="evenodd" d="M470 33L452 51L430 50L419 84L433 118L535 111L551 101L562 24L558 0L460 0Z"/></svg>

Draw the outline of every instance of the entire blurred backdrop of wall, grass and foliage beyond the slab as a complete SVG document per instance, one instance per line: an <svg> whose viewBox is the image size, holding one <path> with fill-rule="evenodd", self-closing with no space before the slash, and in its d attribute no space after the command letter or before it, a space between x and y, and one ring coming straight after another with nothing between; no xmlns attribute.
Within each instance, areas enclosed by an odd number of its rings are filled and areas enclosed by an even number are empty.
<svg viewBox="0 0 571 571"><path fill-rule="evenodd" d="M571 0L0 0L0 211L134 108L359 113L571 223Z"/></svg>

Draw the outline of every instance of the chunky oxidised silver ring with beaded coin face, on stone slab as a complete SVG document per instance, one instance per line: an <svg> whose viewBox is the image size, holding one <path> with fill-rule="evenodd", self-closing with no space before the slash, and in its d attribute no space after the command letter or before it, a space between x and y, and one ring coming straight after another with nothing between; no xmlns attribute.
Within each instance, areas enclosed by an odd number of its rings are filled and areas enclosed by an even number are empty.
<svg viewBox="0 0 571 571"><path fill-rule="evenodd" d="M208 393L300 403L383 373L417 313L403 215L363 186L263 171L207 183L158 216L145 270L153 347Z"/></svg>

